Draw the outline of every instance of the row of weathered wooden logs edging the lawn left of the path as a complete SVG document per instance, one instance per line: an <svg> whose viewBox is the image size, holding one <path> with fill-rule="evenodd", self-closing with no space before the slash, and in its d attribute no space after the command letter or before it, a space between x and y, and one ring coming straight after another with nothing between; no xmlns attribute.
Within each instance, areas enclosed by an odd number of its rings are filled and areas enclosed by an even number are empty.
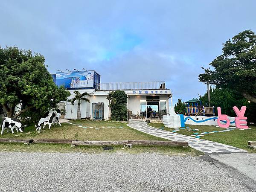
<svg viewBox="0 0 256 192"><path fill-rule="evenodd" d="M7 143L55 143L74 145L166 145L166 146L189 146L183 141L148 141L148 140L120 140L120 141L74 141L63 139L9 139L0 138L0 142ZM248 142L249 144L249 142Z"/></svg>

